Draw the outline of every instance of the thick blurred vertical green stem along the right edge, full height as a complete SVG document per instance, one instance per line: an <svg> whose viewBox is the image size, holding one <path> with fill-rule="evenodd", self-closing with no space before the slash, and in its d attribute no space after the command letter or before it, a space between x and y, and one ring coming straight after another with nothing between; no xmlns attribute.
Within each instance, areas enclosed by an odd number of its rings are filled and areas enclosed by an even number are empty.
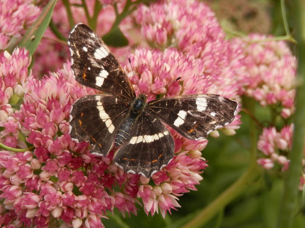
<svg viewBox="0 0 305 228"><path fill-rule="evenodd" d="M298 67L296 77L296 113L290 164L285 177L282 207L278 217L279 228L292 227L296 213L296 200L300 181L305 136L305 1L294 1L296 38L298 41Z"/></svg>

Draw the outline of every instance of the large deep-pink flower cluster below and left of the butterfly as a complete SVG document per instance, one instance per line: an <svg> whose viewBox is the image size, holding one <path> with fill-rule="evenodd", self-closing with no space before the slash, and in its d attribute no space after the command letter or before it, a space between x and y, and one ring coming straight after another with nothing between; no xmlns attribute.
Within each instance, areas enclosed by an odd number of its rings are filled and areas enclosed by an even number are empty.
<svg viewBox="0 0 305 228"><path fill-rule="evenodd" d="M111 162L113 153L98 159L90 154L88 143L72 141L67 123L70 106L75 99L96 91L76 83L69 63L41 80L30 76L23 84L27 92L18 120L35 150L0 152L3 224L45 227L59 222L102 227L100 218L106 211L118 208L122 214L136 214L137 198L146 213L160 210L165 216L179 206L177 196L195 190L202 179L199 173L207 164L199 150L206 140L194 142L173 132L177 154L152 176L154 185L117 168ZM120 191L114 191L114 186Z"/></svg>

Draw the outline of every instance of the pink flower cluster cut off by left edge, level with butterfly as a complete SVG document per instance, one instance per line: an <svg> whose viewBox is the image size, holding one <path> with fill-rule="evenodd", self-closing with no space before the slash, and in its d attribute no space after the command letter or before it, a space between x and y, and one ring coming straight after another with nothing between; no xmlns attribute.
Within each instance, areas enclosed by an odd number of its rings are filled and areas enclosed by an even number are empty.
<svg viewBox="0 0 305 228"><path fill-rule="evenodd" d="M16 48L12 54L7 51L0 53L0 75L3 77L0 81L0 127L3 127L0 142L10 147L25 146L19 140L20 112L9 104L9 100L22 99L30 62L31 58L25 49Z"/></svg>

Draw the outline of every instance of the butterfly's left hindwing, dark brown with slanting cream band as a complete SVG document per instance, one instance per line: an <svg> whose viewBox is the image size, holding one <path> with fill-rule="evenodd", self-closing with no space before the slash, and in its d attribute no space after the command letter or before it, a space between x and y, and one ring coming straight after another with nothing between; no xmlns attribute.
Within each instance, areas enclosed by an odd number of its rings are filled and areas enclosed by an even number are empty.
<svg viewBox="0 0 305 228"><path fill-rule="evenodd" d="M91 153L105 156L127 112L125 102L112 95L84 96L73 103L70 111L71 138L90 143Z"/></svg>

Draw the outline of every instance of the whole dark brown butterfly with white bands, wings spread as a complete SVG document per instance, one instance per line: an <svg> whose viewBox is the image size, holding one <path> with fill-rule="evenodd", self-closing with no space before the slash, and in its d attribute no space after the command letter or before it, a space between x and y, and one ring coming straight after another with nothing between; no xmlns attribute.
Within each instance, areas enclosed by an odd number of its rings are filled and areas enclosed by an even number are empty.
<svg viewBox="0 0 305 228"><path fill-rule="evenodd" d="M150 178L172 160L175 144L163 123L188 139L199 140L234 119L237 103L220 95L180 95L149 102L145 94L136 96L116 57L85 24L74 27L68 45L75 79L106 93L73 103L71 138L90 143L91 153L97 156L117 148L113 161L127 173Z"/></svg>

